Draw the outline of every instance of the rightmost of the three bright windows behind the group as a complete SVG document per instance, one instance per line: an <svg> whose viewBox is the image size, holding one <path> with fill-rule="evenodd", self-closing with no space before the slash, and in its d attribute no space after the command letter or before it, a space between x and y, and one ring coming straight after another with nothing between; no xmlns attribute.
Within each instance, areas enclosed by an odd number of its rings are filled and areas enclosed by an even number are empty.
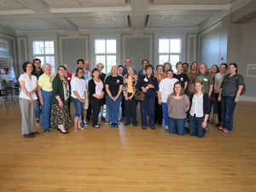
<svg viewBox="0 0 256 192"><path fill-rule="evenodd" d="M159 39L159 64L171 62L173 73L176 73L176 63L181 57L181 39L160 38Z"/></svg>

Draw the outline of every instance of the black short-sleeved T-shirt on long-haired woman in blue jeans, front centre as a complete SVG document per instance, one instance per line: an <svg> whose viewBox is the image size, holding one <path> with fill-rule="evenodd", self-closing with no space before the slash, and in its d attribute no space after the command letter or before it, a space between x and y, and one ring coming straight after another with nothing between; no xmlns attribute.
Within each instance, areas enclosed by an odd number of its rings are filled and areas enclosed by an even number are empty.
<svg viewBox="0 0 256 192"><path fill-rule="evenodd" d="M117 96L119 93L120 84L124 84L123 78L119 75L117 77L113 77L109 75L106 79L105 84L108 84L108 90L110 91L112 96Z"/></svg>

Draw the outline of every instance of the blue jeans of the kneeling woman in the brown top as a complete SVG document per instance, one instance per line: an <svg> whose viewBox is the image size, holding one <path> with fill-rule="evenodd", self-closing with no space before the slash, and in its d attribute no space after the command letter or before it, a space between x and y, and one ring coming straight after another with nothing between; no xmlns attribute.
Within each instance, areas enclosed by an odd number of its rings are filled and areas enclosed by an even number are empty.
<svg viewBox="0 0 256 192"><path fill-rule="evenodd" d="M180 136L185 135L188 132L188 129L185 128L186 118L185 119L174 119L172 117L168 117L169 120L169 132L171 134L178 134Z"/></svg>

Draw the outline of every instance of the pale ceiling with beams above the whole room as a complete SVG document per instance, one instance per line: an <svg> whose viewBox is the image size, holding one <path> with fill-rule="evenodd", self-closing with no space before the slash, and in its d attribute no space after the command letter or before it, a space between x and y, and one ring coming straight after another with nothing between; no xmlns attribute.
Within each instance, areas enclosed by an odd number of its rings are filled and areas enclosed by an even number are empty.
<svg viewBox="0 0 256 192"><path fill-rule="evenodd" d="M195 27L241 2L246 1L0 0L0 27L16 32Z"/></svg>

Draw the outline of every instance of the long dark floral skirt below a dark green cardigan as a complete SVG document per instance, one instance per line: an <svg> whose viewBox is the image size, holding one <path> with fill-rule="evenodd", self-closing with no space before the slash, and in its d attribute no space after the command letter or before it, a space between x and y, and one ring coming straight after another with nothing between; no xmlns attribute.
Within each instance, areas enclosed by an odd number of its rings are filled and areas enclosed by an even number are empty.
<svg viewBox="0 0 256 192"><path fill-rule="evenodd" d="M63 108L59 104L53 104L51 107L51 124L65 125L70 120L68 110L68 100L65 101Z"/></svg>

